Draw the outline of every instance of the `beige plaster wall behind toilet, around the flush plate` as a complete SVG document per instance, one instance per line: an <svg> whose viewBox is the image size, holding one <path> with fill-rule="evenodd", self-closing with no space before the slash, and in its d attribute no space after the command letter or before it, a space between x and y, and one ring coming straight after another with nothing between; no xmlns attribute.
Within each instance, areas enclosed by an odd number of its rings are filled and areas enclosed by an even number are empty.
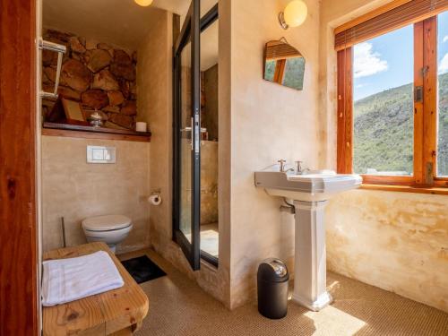
<svg viewBox="0 0 448 336"><path fill-rule="evenodd" d="M88 164L87 145L116 148L115 164ZM134 228L117 252L149 246L149 142L42 136L43 251L86 243L81 221L90 216L123 214Z"/></svg>

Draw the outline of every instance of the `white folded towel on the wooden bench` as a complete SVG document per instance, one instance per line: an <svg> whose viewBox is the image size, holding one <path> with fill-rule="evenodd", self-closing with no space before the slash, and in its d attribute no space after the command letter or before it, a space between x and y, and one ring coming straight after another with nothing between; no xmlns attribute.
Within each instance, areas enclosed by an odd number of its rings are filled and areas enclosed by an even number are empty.
<svg viewBox="0 0 448 336"><path fill-rule="evenodd" d="M125 284L105 251L43 262L42 305L65 304Z"/></svg>

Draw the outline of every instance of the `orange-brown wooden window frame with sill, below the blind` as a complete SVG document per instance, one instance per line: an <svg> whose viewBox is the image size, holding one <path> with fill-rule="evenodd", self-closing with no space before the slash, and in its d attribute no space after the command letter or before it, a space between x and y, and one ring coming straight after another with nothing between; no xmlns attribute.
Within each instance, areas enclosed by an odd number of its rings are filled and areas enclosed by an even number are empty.
<svg viewBox="0 0 448 336"><path fill-rule="evenodd" d="M397 27L399 29L401 27ZM360 42L359 42L360 43ZM424 70L425 69L425 70ZM337 52L337 171L353 173L353 47ZM437 15L414 23L414 87L422 86L423 102L414 101L413 176L361 175L363 185L401 186L383 190L403 191L403 186L416 189L448 187L448 177L437 177ZM406 190L409 191L409 190ZM426 191L421 191L426 192ZM448 194L448 189L440 193Z"/></svg>

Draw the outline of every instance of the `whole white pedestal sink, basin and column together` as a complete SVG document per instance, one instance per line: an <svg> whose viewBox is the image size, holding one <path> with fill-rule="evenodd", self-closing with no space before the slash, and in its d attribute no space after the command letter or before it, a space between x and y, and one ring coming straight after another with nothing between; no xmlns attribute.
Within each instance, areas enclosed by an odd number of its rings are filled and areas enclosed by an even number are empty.
<svg viewBox="0 0 448 336"><path fill-rule="evenodd" d="M292 299L319 311L332 302L326 290L324 207L333 195L357 188L358 175L329 170L303 175L279 171L255 172L255 185L272 196L294 200L296 208L295 276Z"/></svg>

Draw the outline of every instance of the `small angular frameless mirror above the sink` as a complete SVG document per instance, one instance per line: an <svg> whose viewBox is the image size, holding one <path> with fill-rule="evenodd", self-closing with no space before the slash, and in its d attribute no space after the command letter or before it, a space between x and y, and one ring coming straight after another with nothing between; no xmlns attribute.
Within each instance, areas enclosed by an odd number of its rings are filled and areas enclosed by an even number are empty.
<svg viewBox="0 0 448 336"><path fill-rule="evenodd" d="M273 40L264 48L263 79L296 90L303 90L305 58L283 40Z"/></svg>

